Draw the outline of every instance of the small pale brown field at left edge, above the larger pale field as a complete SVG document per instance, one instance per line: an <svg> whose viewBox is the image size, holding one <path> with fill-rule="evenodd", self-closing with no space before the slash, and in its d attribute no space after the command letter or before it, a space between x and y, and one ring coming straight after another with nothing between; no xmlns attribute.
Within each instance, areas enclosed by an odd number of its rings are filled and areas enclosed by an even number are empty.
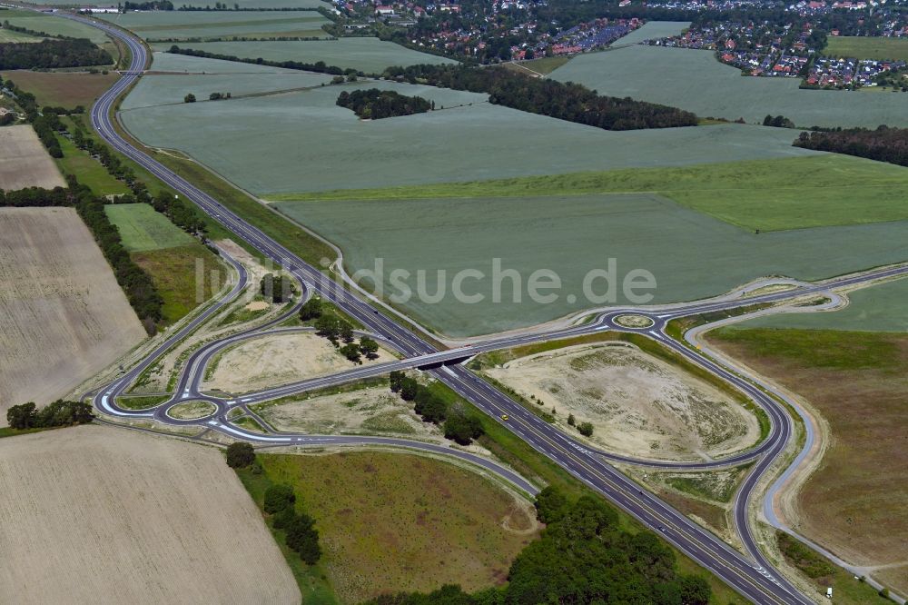
<svg viewBox="0 0 908 605"><path fill-rule="evenodd" d="M65 187L63 176L29 125L0 128L0 189Z"/></svg>

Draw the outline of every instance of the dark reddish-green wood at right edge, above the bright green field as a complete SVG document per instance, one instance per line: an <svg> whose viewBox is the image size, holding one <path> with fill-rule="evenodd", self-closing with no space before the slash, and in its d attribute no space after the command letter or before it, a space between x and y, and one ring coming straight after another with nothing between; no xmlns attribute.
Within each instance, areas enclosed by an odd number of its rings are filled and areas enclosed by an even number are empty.
<svg viewBox="0 0 908 605"><path fill-rule="evenodd" d="M876 130L848 128L801 133L795 146L908 166L908 128L879 126Z"/></svg>

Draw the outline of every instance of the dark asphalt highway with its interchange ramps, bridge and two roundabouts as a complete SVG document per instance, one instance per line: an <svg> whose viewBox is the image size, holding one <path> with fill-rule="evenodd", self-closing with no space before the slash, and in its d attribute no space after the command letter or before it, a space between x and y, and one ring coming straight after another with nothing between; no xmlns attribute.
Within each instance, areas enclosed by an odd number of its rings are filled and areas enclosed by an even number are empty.
<svg viewBox="0 0 908 605"><path fill-rule="evenodd" d="M366 332L370 332L377 338L380 338L383 342L386 342L388 346L400 352L403 357L403 359L398 362L386 363L383 366L363 367L335 376L284 385L264 392L246 394L236 401L225 401L205 396L198 391L199 382L201 380L200 377L203 375L206 363L212 359L212 356L216 354L222 344L217 343L217 345L209 345L207 348L193 353L192 360L185 366L187 370L184 371L181 376L178 391L174 394L171 401L165 402L162 406L153 411L133 412L123 410L116 404L116 397L124 392L130 383L133 382L144 369L148 368L154 360L159 358L163 352L169 350L187 334L197 329L203 322L212 317L212 313L222 309L224 304L231 302L235 296L242 291L242 288L246 284L245 272L239 263L236 263L224 253L222 255L225 260L228 263L231 263L240 275L240 278L230 293L227 293L218 301L210 303L210 306L197 315L192 322L187 323L186 326L174 333L173 336L168 338L160 346L156 347L143 362L131 368L115 382L112 382L94 393L94 404L99 410L113 416L154 418L170 424L199 424L210 430L221 431L232 437L252 441L262 446L370 444L417 448L423 451L441 453L447 456L458 456L463 460L479 464L487 470L521 486L525 491L534 493L537 488L512 471L508 471L508 469L505 469L504 467L500 467L493 462L486 461L479 457L471 457L471 455L466 452L454 448L419 441L365 436L318 436L274 432L260 434L240 429L233 426L227 420L227 413L234 407L239 406L248 411L248 408L246 407L248 404L268 401L287 394L304 392L331 384L341 384L343 382L359 380L370 375L374 376L378 373L390 372L392 369L411 367L423 368L439 381L447 384L455 392L458 392L459 395L469 402L472 402L481 411L486 412L494 419L498 419L498 422L501 422L500 417L502 414L508 414L509 420L504 423L505 426L508 427L508 430L513 431L535 450L548 456L552 461L555 461L566 471L577 477L579 481L586 483L592 490L602 494L607 500L636 517L647 527L655 531L660 531L666 541L671 542L693 560L696 560L696 562L706 569L711 570L716 576L728 583L746 599L758 603L813 602L804 594L801 594L796 590L787 580L782 578L772 568L770 563L765 560L765 557L758 548L753 532L749 528L746 510L746 504L748 501L752 500L755 486L764 478L766 471L769 470L778 459L779 455L785 450L789 441L791 441L793 434L791 418L788 416L785 409L778 402L775 402L775 399L757 388L753 382L725 368L718 362L707 358L705 355L696 352L695 349L691 349L685 344L676 342L674 339L668 337L666 335L666 324L673 319L689 315L704 312L727 311L760 303L784 302L795 296L804 295L804 293L823 293L834 287L866 283L873 279L881 279L885 276L908 273L908 267L887 268L873 273L843 277L838 280L827 281L826 283L806 286L793 292L765 294L763 296L753 296L741 300L723 299L693 302L685 305L677 305L671 309L656 311L630 308L617 309L598 315L593 322L564 330L492 339L488 342L480 342L469 347L462 347L452 351L438 351L431 343L420 338L419 335L412 332L407 326L401 325L399 322L390 319L386 314L377 311L355 294L348 292L341 284L331 282L318 268L304 263L299 257L284 248L280 243L272 240L254 225L247 223L241 216L224 207L221 203L212 198L212 196L202 192L192 185L192 183L189 183L179 175L174 174L170 169L163 166L163 164L158 163L152 157L144 154L139 149L134 148L132 144L123 139L114 128L114 123L112 122L112 108L118 97L123 94L138 77L140 77L147 62L147 51L142 43L133 35L112 25L95 22L92 19L79 15L69 15L69 18L77 19L103 29L107 34L123 41L132 53L132 63L128 70L124 72L123 77L121 77L110 90L103 94L92 107L92 124L94 129L104 138L104 140L118 152L130 157L137 164L142 165L143 168L161 179L163 183L167 183L173 190L197 204L204 213L212 216L215 221L221 223L227 230L235 233L237 237L242 238L245 243L248 243L273 262L281 265L285 271L291 273L301 284L303 284L306 295L318 293L322 298L333 302L340 307L343 312L348 313L357 322L360 322L360 324L365 327ZM616 322L617 317L627 313L644 315L650 319L652 325L644 329L635 330L622 326ZM270 329L271 327L272 324L266 326L265 329ZM254 332L251 331L232 335L230 338L239 340L246 337L253 337L257 332L261 332L261 330L262 327L257 328ZM629 480L624 474L617 471L609 464L609 459L620 461L619 457L607 454L607 452L591 450L587 445L558 431L558 429L549 425L547 422L543 422L537 415L525 409L518 402L512 401L504 393L499 392L488 382L482 381L478 376L469 372L468 369L458 363L460 360L469 358L478 352L508 348L529 342L558 340L571 336L613 330L639 332L657 342L661 342L690 362L700 365L708 372L712 372L726 382L734 385L735 388L744 392L757 405L762 407L769 416L771 423L769 436L752 451L741 454L742 456L746 456L746 458L740 459L756 460L754 469L745 479L745 483L736 500L738 506L735 511L735 518L747 554L732 549L725 544L724 541L721 541L711 532L706 531L695 522L690 521L685 515L668 506L665 502L656 498L656 496L648 491L641 490L634 481ZM226 346L226 344L224 344L224 346ZM446 362L450 365L441 365ZM187 399L206 399L212 401L217 406L217 412L212 414L211 417L202 419L201 421L191 422L177 421L167 414L167 410L170 407ZM652 463L651 461L635 462L644 464ZM691 465L696 464L702 467L707 464L720 465L727 463L730 463L730 461L681 463L679 466L694 468ZM659 465L664 466L665 463L662 462L659 463Z"/></svg>

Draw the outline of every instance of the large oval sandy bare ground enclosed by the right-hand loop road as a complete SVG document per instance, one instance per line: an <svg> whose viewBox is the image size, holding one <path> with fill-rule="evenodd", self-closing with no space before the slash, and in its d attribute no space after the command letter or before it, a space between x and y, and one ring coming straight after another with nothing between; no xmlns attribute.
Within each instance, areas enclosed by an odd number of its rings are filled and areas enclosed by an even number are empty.
<svg viewBox="0 0 908 605"><path fill-rule="evenodd" d="M486 371L525 398L591 422L591 441L650 458L712 457L741 450L760 434L755 417L712 385L624 345L578 345ZM575 431L576 432L576 431Z"/></svg>

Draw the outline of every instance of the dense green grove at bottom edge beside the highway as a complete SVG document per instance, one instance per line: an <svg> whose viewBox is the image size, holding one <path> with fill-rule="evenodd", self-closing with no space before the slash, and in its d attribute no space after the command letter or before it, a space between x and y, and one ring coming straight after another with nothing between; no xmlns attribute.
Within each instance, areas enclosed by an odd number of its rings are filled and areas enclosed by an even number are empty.
<svg viewBox="0 0 908 605"><path fill-rule="evenodd" d="M709 602L706 580L678 573L675 553L653 532L621 529L617 512L600 498L569 503L549 487L539 493L537 508L548 527L511 563L507 585L474 594L445 586L429 594L383 595L369 605Z"/></svg>

